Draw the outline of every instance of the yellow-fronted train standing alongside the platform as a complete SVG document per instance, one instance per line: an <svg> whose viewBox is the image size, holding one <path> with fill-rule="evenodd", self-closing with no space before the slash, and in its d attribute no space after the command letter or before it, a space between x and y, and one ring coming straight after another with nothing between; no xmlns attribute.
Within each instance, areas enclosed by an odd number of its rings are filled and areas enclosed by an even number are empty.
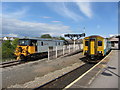
<svg viewBox="0 0 120 90"><path fill-rule="evenodd" d="M99 59L111 49L111 42L106 38L92 35L83 39L83 54L90 59Z"/></svg>

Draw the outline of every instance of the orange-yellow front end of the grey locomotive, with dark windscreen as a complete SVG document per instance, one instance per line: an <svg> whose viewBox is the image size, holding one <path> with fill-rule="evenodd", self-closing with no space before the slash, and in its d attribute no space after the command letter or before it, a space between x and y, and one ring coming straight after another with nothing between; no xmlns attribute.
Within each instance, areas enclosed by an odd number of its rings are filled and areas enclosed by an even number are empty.
<svg viewBox="0 0 120 90"><path fill-rule="evenodd" d="M35 42L30 39L19 39L19 43L15 50L17 60L26 60L28 56L35 53Z"/></svg>

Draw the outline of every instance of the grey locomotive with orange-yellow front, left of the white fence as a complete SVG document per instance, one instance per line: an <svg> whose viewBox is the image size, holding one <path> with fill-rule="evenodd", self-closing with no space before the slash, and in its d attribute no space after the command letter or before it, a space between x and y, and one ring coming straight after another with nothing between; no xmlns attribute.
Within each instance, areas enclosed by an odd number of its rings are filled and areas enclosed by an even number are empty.
<svg viewBox="0 0 120 90"><path fill-rule="evenodd" d="M63 46L63 40L42 39L42 38L23 38L19 39L15 55L17 60L36 59L47 56L48 48Z"/></svg>

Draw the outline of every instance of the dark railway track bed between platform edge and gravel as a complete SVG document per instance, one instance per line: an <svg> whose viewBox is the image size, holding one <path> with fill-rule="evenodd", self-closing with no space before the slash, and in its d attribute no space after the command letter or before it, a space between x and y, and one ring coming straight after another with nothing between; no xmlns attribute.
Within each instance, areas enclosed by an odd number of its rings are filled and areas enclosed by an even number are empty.
<svg viewBox="0 0 120 90"><path fill-rule="evenodd" d="M88 71L90 68L92 68L95 64L84 64L77 69L60 76L42 86L39 86L37 88L34 88L34 90L39 90L41 88L65 88L67 85L69 85L71 82L73 82L75 79L80 77L82 74L84 74L86 71Z"/></svg>

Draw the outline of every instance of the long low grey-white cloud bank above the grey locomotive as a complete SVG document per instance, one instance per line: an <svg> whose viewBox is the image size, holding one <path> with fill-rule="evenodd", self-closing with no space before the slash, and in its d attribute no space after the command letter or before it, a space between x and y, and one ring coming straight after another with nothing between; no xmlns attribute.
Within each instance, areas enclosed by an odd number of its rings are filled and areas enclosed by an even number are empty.
<svg viewBox="0 0 120 90"><path fill-rule="evenodd" d="M43 33L57 36L70 32L70 27L62 24L33 23L10 18L2 19L3 35L39 37Z"/></svg>

